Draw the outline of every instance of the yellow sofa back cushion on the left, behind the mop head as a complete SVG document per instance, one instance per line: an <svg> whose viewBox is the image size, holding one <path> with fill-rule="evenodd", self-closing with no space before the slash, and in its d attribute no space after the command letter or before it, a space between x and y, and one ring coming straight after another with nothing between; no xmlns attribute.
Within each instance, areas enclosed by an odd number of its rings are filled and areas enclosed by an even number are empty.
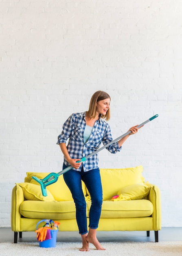
<svg viewBox="0 0 182 256"><path fill-rule="evenodd" d="M27 172L25 177L25 182L30 182L32 184L38 184L32 176L37 177L38 179L44 179L48 174L50 173L33 173L33 172ZM68 186L66 185L63 175L60 175L57 182L46 186L46 189L50 191L50 193L53 195L55 200L57 201L73 201L72 194L70 190L68 189ZM86 195L86 186L84 182L82 182L82 189L84 195Z"/></svg>

